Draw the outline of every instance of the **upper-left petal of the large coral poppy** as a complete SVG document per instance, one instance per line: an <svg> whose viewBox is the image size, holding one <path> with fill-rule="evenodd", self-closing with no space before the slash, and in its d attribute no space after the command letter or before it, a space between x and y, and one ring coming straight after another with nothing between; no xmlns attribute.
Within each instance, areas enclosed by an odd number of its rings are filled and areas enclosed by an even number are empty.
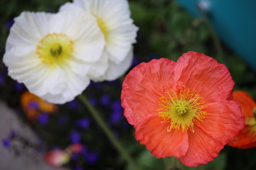
<svg viewBox="0 0 256 170"><path fill-rule="evenodd" d="M131 125L149 114L157 114L159 98L173 86L175 62L168 59L139 64L125 77L122 85L122 107Z"/></svg>

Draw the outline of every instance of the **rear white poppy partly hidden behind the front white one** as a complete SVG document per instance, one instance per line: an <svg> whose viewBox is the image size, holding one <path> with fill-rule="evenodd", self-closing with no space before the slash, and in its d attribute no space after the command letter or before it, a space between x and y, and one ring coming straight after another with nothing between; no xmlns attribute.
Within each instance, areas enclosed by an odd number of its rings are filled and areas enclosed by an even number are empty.
<svg viewBox="0 0 256 170"><path fill-rule="evenodd" d="M104 34L106 45L102 58L107 58L105 74L95 74L97 67L90 70L94 81L114 80L124 74L132 64L132 44L136 42L137 26L130 18L127 0L74 0L60 7L60 11L85 11L97 18Z"/></svg>

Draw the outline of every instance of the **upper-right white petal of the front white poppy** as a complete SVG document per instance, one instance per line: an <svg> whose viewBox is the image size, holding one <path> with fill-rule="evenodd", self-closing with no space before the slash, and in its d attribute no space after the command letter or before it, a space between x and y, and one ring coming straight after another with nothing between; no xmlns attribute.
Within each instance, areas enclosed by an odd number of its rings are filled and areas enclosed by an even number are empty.
<svg viewBox="0 0 256 170"><path fill-rule="evenodd" d="M71 5L68 4L68 6ZM61 28L61 30L59 31L73 40L73 56L85 62L100 60L102 50L105 47L105 39L97 25L95 16L85 11L70 10L58 13L58 16L55 17L55 22L60 22L58 28Z"/></svg>

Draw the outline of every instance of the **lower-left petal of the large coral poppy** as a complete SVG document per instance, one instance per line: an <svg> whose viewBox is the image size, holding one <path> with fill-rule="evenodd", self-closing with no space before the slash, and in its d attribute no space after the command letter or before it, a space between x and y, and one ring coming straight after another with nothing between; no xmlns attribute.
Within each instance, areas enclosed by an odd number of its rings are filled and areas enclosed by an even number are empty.
<svg viewBox="0 0 256 170"><path fill-rule="evenodd" d="M135 125L135 137L157 158L181 157L188 149L188 135L181 130L167 131L158 115L148 115Z"/></svg>

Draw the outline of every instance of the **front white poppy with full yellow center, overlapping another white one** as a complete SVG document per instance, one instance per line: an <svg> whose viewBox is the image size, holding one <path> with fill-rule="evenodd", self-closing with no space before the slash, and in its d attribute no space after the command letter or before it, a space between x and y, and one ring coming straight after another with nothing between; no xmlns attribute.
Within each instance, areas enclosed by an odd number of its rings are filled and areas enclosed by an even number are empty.
<svg viewBox="0 0 256 170"><path fill-rule="evenodd" d="M4 63L9 75L31 93L65 103L88 86L90 69L100 66L96 73L106 72L104 47L104 35L90 14L23 12L6 41Z"/></svg>

